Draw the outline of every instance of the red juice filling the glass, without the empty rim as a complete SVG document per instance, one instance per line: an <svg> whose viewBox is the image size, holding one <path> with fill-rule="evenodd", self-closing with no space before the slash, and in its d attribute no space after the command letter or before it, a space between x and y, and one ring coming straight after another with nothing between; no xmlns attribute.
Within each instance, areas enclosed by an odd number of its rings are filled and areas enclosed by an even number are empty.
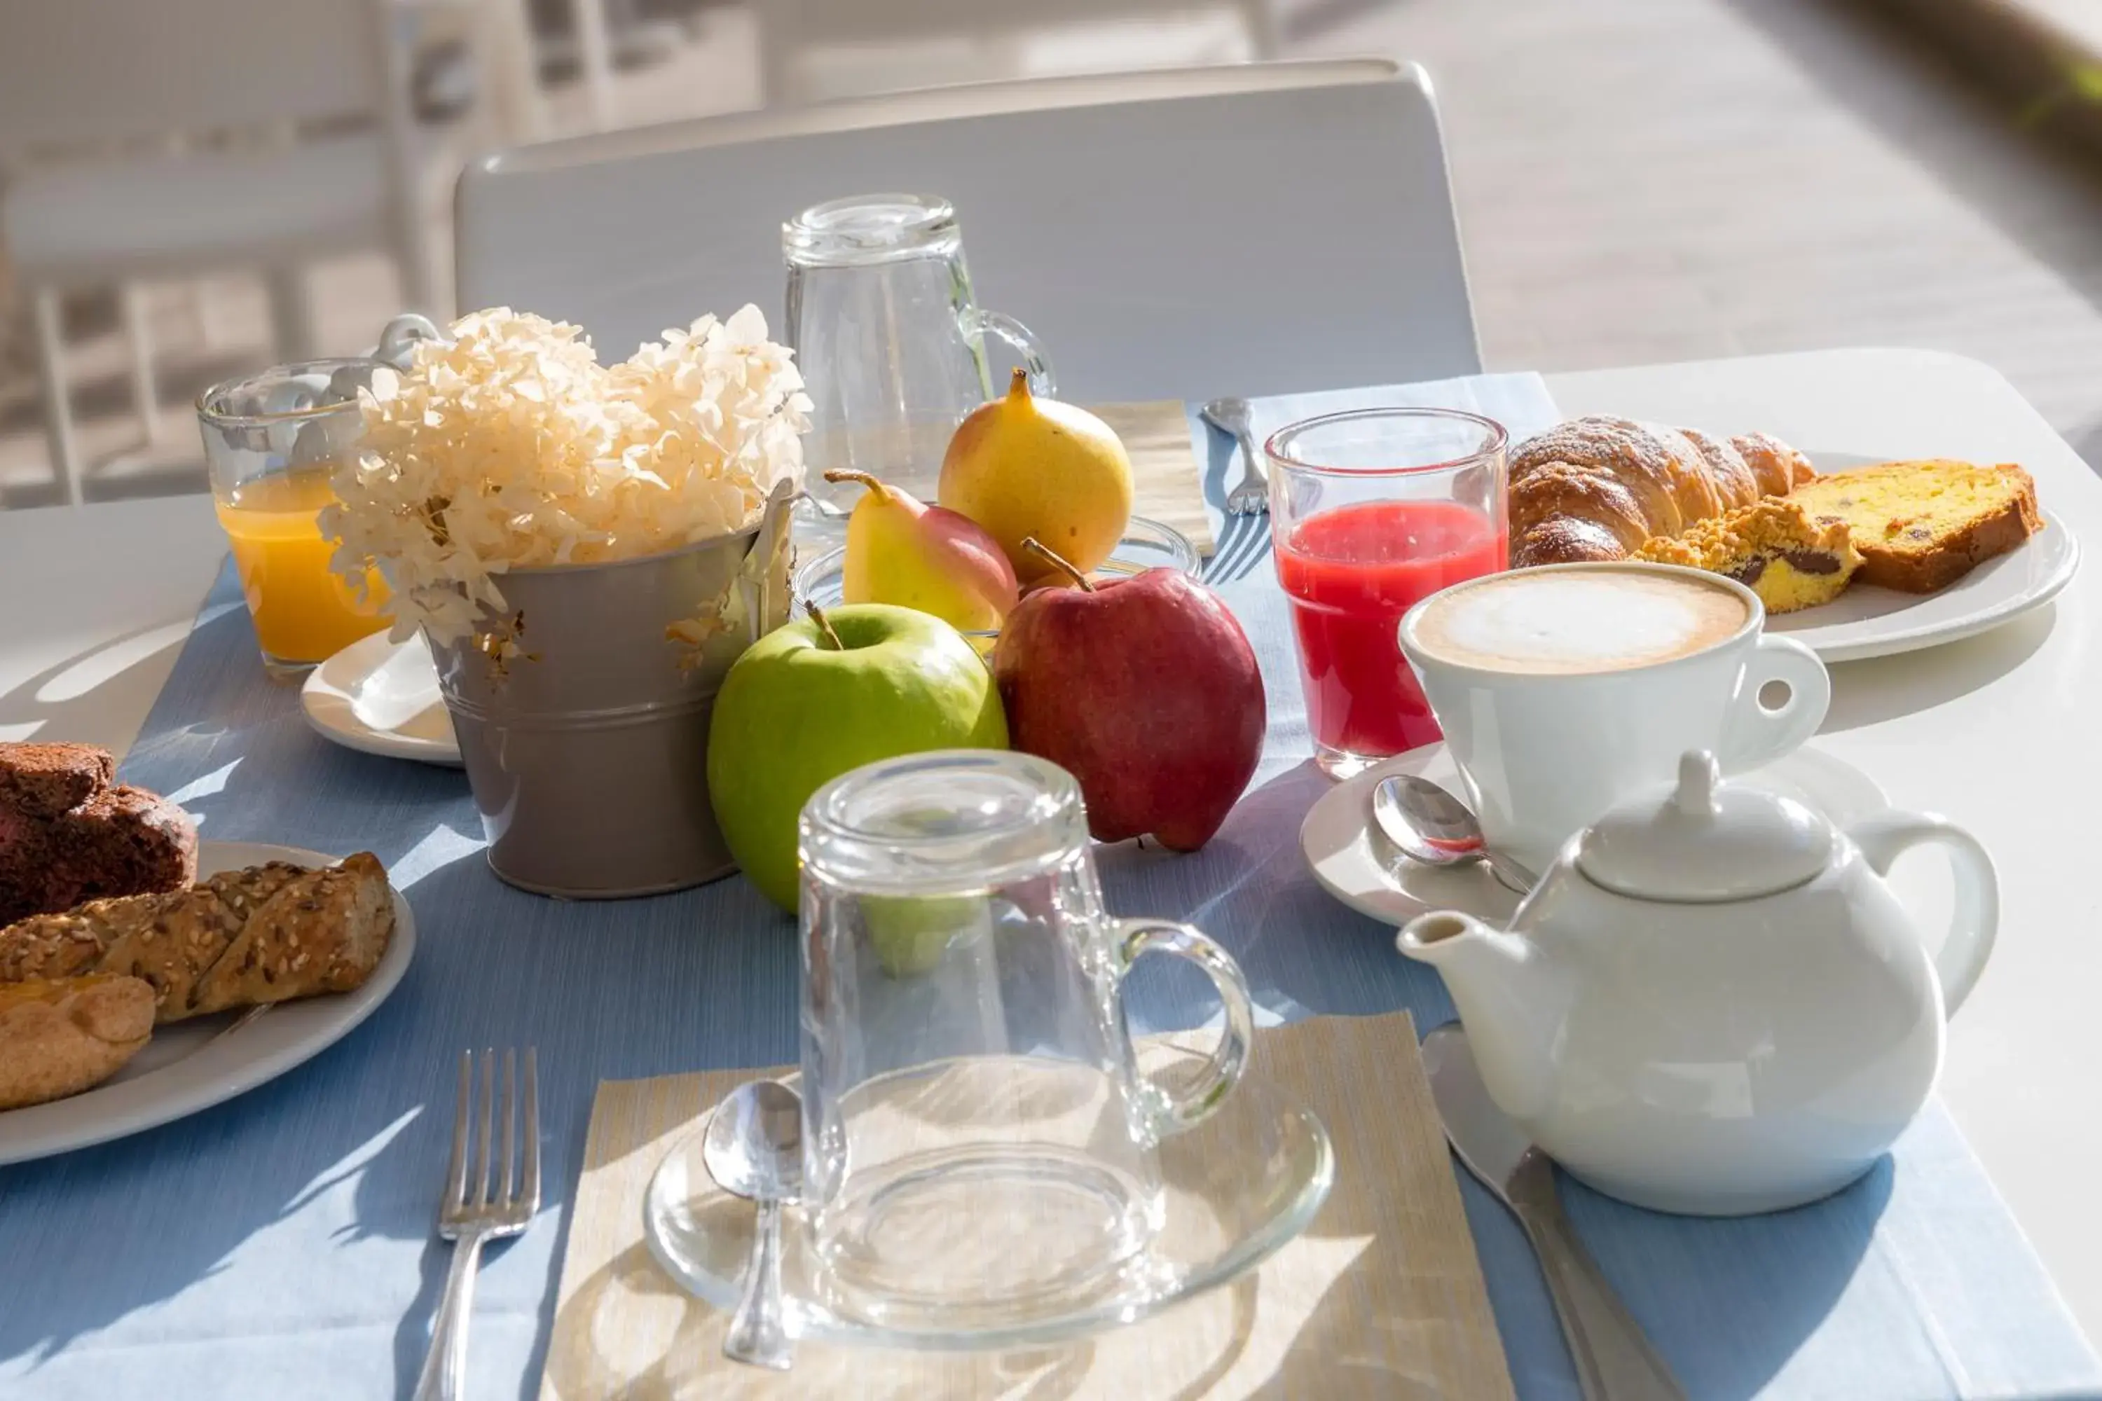
<svg viewBox="0 0 2102 1401"><path fill-rule="evenodd" d="M1362 502L1312 515L1278 544L1293 601L1307 729L1328 750L1383 758L1440 739L1396 636L1446 584L1497 573L1507 536L1461 502Z"/></svg>

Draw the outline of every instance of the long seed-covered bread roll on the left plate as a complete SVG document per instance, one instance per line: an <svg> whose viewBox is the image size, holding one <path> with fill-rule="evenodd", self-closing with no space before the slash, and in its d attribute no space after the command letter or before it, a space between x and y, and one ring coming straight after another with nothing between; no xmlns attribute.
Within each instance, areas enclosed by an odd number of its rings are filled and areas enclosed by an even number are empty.
<svg viewBox="0 0 2102 1401"><path fill-rule="evenodd" d="M372 853L324 870L271 861L187 891L97 899L0 928L0 983L114 973L153 987L153 1021L351 991L393 937Z"/></svg>

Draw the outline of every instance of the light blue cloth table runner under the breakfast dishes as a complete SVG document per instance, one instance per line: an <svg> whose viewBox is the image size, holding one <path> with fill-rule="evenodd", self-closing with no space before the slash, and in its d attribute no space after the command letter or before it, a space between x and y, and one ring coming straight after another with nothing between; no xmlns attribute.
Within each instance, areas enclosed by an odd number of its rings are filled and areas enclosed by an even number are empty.
<svg viewBox="0 0 2102 1401"><path fill-rule="evenodd" d="M1257 410L1274 426L1362 403L1474 405L1513 439L1555 418L1537 376ZM1217 506L1238 468L1225 439L1192 431ZM1299 819L1324 779L1305 762L1268 525L1215 529L1213 578L1270 691L1268 752L1204 851L1104 849L1110 905L1211 930L1265 1019L1406 1006L1434 1027L1452 1017L1438 977L1305 872ZM231 573L124 777L177 796L206 838L376 851L420 943L395 996L292 1073L179 1124L0 1168L0 1397L406 1395L448 1260L431 1227L458 1050L538 1044L547 1208L488 1256L471 1355L473 1397L534 1397L597 1082L792 1061L792 924L742 880L620 903L511 891L479 857L460 773L336 748L290 687L263 681ZM1200 1021L1196 981L1146 968L1135 1021ZM1520 1397L1574 1397L1516 1222L1461 1185ZM1795 1212L1688 1220L1568 1180L1564 1199L1694 1397L2102 1397L2102 1365L1938 1105L1862 1183Z"/></svg>

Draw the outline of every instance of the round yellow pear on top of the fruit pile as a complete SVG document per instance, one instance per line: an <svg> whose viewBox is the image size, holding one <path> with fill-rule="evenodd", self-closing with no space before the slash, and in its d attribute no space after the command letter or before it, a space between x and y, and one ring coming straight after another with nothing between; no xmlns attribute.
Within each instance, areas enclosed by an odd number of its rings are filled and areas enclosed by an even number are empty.
<svg viewBox="0 0 2102 1401"><path fill-rule="evenodd" d="M1110 557L1131 521L1131 456L1087 410L1030 395L1015 370L1005 399L956 424L940 500L1001 542L1022 584L1055 576L1022 548L1034 536L1080 571Z"/></svg>

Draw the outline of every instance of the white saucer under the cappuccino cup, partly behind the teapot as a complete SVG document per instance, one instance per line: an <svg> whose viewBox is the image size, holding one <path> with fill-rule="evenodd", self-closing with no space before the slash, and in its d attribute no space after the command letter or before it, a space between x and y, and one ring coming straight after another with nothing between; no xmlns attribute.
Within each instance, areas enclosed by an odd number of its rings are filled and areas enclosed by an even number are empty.
<svg viewBox="0 0 2102 1401"><path fill-rule="evenodd" d="M1419 773L1455 794L1465 792L1442 744L1410 750L1337 783L1299 823L1299 851L1314 880L1358 914L1394 926L1429 909L1465 909L1484 920L1503 920L1518 909L1518 895L1480 861L1419 865L1373 830L1373 788L1389 773ZM1738 777L1806 802L1839 825L1890 807L1875 779L1814 746Z"/></svg>

